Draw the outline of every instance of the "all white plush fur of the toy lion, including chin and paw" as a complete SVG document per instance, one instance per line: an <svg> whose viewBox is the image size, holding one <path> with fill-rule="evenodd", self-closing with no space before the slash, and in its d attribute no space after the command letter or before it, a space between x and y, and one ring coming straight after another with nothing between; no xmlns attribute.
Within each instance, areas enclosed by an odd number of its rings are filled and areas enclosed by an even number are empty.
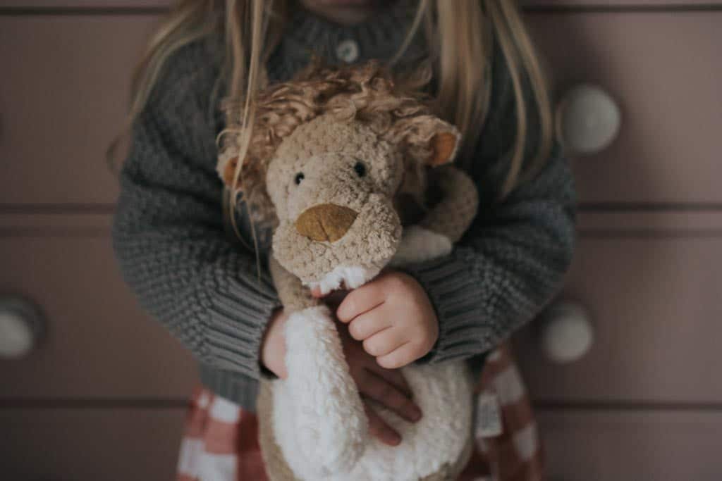
<svg viewBox="0 0 722 481"><path fill-rule="evenodd" d="M428 260L450 251L451 242L445 237L410 227L394 263ZM354 274L345 275L349 272ZM375 273L355 283L354 279L367 275L339 269L339 278L349 288ZM401 434L401 445L391 448L367 436L360 398L328 309L313 307L292 314L286 338L289 381L274 382L274 434L300 480L417 481L461 456L471 436L473 410L471 376L463 361L403 369L423 417L407 423L374 405Z"/></svg>

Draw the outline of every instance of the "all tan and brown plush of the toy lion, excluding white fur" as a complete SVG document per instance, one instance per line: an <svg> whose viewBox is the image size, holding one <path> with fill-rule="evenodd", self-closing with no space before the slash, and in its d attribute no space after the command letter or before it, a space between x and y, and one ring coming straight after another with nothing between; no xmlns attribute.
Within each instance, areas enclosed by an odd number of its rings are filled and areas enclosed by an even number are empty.
<svg viewBox="0 0 722 481"><path fill-rule="evenodd" d="M271 274L288 312L315 305L304 286L334 269L373 273L391 260L401 242L397 209L408 205L401 198L417 204L420 226L451 242L474 219L476 189L453 167L434 169L431 184L440 195L427 211L427 170L453 160L458 131L430 114L422 94L397 89L375 63L340 71L312 66L261 92L257 103L243 165L237 167L235 142L226 141L218 172L231 189L243 188L261 218L274 216ZM271 396L271 384L262 381L260 444L271 480L290 481L274 440ZM425 481L456 477L470 450Z"/></svg>

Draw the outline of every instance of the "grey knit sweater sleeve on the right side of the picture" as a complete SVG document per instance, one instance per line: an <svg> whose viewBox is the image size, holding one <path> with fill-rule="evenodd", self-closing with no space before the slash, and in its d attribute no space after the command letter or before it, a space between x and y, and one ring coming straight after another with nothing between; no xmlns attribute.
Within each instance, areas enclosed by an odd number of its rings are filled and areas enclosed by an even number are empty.
<svg viewBox="0 0 722 481"><path fill-rule="evenodd" d="M575 246L575 189L558 144L533 179L495 201L513 146L516 102L508 71L496 56L492 100L470 169L479 213L451 255L413 265L435 306L440 335L423 361L488 353L531 320L560 287ZM536 154L539 119L531 101L526 161Z"/></svg>

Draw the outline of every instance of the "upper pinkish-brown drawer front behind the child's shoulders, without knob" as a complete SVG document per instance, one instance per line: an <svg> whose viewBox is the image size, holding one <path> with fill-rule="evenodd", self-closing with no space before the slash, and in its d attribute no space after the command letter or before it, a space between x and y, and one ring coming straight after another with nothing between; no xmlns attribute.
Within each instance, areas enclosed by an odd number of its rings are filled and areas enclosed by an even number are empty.
<svg viewBox="0 0 722 481"><path fill-rule="evenodd" d="M622 106L617 141L574 163L583 203L722 202L715 154L722 12L528 19L560 92L593 82ZM0 17L0 59L9 67L0 92L0 156L8 159L0 167L0 203L114 202L105 148L121 127L129 75L156 21Z"/></svg>

